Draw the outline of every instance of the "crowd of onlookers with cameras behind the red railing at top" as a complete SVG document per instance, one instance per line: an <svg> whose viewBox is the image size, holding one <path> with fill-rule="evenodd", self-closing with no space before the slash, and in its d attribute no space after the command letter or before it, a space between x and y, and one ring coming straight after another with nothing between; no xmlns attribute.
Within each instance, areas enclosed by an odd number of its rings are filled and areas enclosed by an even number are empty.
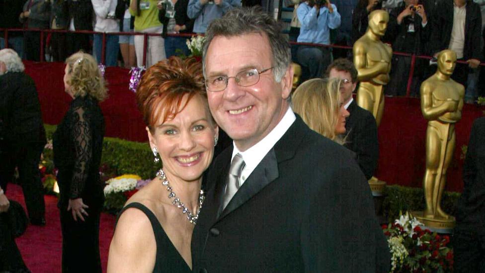
<svg viewBox="0 0 485 273"><path fill-rule="evenodd" d="M52 32L44 36L47 61L59 62L83 50L106 66L149 67L174 55L189 55L187 37L204 34L209 23L239 6L261 5L268 12L276 0L0 0L0 28L89 30L106 33ZM485 2L483 0L283 0L294 7L290 41L323 46L293 45L292 60L302 66L304 80L321 77L333 59L351 56L351 47L367 29L368 15L376 9L390 13L383 41L395 52L435 57L443 49L456 51L459 63L453 78L466 87L466 102L475 103L485 90L484 56ZM467 23L465 23L467 22ZM115 32L150 35L110 35ZM0 47L4 36L0 35ZM9 31L8 44L23 59L40 60L39 31ZM105 42L105 54L101 53ZM144 48L146 48L144 60ZM104 60L104 61L102 61ZM410 82L411 96L436 70L435 60L417 58ZM406 95L411 58L395 55L386 95Z"/></svg>

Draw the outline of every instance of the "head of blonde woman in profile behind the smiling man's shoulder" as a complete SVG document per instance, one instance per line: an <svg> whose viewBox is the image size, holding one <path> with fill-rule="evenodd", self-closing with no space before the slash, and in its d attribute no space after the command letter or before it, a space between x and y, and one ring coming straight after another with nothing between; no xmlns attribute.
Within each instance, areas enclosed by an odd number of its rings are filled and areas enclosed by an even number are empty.
<svg viewBox="0 0 485 273"><path fill-rule="evenodd" d="M339 88L340 80L308 80L295 90L292 108L312 130L343 144L345 118L350 114L342 103Z"/></svg>

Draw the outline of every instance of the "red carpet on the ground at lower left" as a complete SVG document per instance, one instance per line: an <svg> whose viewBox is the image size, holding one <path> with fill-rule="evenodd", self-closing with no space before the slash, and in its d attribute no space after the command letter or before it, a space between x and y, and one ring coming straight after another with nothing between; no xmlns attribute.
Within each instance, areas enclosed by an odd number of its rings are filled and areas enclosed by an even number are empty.
<svg viewBox="0 0 485 273"><path fill-rule="evenodd" d="M8 184L6 195L8 199L21 203L25 209L22 189L19 185ZM27 231L17 238L16 242L25 264L32 273L57 273L61 272L62 257L61 221L57 208L57 197L45 195L44 199L47 225L45 227L29 225ZM103 272L106 272L114 222L113 215L101 213L99 251Z"/></svg>

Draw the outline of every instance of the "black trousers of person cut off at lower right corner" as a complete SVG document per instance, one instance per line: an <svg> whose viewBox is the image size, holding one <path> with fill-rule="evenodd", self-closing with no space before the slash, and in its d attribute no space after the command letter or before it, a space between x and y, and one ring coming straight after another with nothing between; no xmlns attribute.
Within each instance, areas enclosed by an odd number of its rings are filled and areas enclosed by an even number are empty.
<svg viewBox="0 0 485 273"><path fill-rule="evenodd" d="M485 224L458 224L453 252L455 273L485 273Z"/></svg>

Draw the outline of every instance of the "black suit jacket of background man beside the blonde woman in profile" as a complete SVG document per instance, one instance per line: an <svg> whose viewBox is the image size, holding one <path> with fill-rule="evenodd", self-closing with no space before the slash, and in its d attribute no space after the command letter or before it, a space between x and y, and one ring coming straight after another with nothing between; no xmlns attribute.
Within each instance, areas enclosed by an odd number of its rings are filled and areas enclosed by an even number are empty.
<svg viewBox="0 0 485 273"><path fill-rule="evenodd" d="M348 134L344 146L356 154L360 170L369 180L379 160L376 119L371 112L357 105L355 100L350 103L347 111L350 115L345 124Z"/></svg>

